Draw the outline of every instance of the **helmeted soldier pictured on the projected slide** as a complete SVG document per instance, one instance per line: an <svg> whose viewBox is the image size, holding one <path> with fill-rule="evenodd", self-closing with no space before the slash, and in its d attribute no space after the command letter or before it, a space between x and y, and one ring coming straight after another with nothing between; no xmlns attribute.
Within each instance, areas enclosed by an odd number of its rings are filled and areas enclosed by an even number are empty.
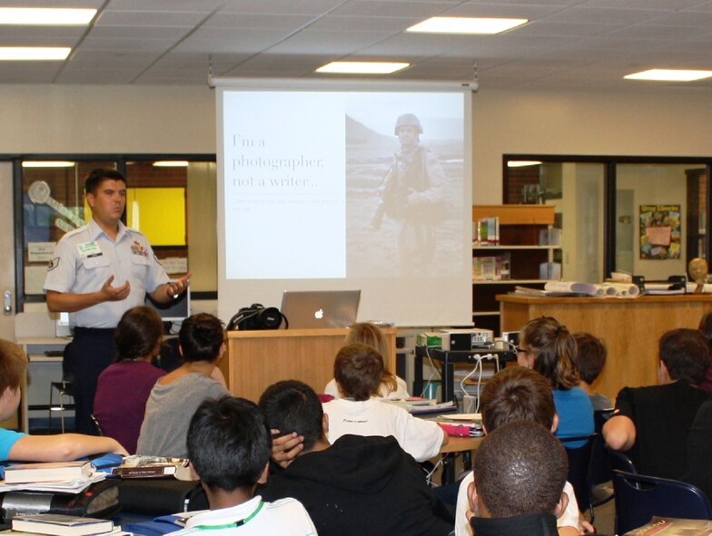
<svg viewBox="0 0 712 536"><path fill-rule="evenodd" d="M394 134L401 142L391 169L379 189L380 200L371 219L381 229L383 216L401 224L398 257L401 272L425 275L435 252L433 228L445 216L445 172L435 155L420 145L420 120L412 113L396 121Z"/></svg>

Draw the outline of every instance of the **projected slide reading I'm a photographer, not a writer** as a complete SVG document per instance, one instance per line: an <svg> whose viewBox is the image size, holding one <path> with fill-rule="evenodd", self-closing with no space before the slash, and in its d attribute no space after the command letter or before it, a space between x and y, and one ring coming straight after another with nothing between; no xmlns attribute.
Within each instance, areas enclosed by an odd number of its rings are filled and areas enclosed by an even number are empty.
<svg viewBox="0 0 712 536"><path fill-rule="evenodd" d="M463 100L225 91L225 277L469 277Z"/></svg>

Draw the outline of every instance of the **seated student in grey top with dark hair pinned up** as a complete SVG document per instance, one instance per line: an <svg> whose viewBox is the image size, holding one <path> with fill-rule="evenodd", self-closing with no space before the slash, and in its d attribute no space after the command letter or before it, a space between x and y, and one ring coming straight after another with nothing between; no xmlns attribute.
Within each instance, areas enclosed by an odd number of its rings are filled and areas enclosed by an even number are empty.
<svg viewBox="0 0 712 536"><path fill-rule="evenodd" d="M200 313L183 320L178 334L183 365L153 385L136 453L186 458L185 436L195 409L206 398L230 395L211 375L225 352L223 323Z"/></svg>

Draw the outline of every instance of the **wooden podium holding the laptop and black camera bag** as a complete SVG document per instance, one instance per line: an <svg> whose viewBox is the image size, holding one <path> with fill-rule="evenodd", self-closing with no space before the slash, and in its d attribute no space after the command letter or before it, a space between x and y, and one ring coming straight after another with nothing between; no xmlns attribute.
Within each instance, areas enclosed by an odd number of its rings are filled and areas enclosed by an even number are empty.
<svg viewBox="0 0 712 536"><path fill-rule="evenodd" d="M394 327L383 328L390 348L386 366L395 372ZM229 331L227 355L220 369L235 396L257 402L280 380L301 380L317 393L333 377L333 361L349 333L343 329L278 329Z"/></svg>

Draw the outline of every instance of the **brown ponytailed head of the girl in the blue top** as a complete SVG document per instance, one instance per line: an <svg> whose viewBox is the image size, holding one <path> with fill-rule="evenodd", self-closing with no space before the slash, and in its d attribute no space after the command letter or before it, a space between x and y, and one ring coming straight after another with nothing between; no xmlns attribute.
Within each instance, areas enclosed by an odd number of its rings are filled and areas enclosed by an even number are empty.
<svg viewBox="0 0 712 536"><path fill-rule="evenodd" d="M578 385L578 370L574 365L576 341L555 318L529 320L522 328L520 344L534 356L534 370L547 378L554 389Z"/></svg>

